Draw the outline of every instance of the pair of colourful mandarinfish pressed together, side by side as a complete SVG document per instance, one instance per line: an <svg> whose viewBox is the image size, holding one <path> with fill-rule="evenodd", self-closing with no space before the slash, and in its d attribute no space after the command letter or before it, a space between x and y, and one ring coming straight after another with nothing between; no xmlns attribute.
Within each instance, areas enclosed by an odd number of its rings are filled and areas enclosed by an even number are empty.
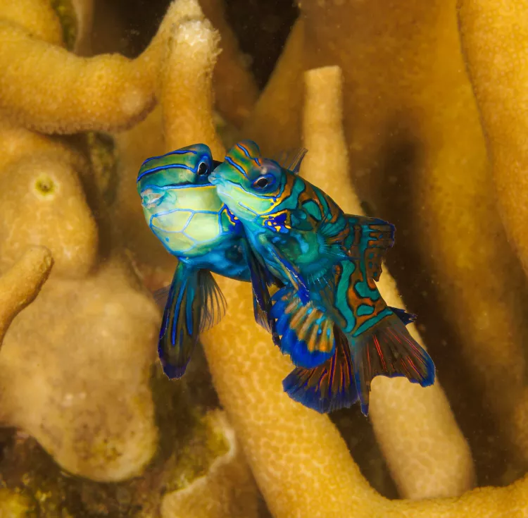
<svg viewBox="0 0 528 518"><path fill-rule="evenodd" d="M359 399L366 415L372 378L429 386L434 364L406 330L415 316L388 307L375 284L394 226L344 214L298 176L305 153L265 159L246 140L222 163L204 144L144 162L146 220L180 261L158 351L165 374L182 376L225 307L210 272L251 281L256 321L297 366L283 382L290 397L318 412Z"/></svg>

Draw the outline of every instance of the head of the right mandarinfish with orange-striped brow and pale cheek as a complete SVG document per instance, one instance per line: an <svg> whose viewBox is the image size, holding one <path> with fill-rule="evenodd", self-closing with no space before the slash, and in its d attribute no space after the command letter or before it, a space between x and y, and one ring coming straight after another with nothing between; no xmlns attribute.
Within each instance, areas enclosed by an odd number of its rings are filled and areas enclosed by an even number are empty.
<svg viewBox="0 0 528 518"><path fill-rule="evenodd" d="M255 142L242 140L230 149L209 180L237 218L256 221L280 203L287 175L276 161L260 156Z"/></svg>

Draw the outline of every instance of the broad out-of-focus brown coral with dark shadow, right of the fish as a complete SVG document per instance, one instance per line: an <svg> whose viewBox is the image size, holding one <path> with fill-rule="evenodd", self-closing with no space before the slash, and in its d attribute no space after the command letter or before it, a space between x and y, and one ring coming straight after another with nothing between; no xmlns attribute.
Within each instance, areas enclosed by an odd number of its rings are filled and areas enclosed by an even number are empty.
<svg viewBox="0 0 528 518"><path fill-rule="evenodd" d="M303 1L302 27L292 31L246 136L268 154L298 145L299 68L341 66L358 195L396 224L391 272L410 311L420 310L440 381L465 433L481 445L477 462L496 463L501 481L503 451L508 464L520 460L526 278L498 216L455 1L389 5ZM489 409L500 425L483 419ZM494 460L482 450L489 441L501 443Z"/></svg>

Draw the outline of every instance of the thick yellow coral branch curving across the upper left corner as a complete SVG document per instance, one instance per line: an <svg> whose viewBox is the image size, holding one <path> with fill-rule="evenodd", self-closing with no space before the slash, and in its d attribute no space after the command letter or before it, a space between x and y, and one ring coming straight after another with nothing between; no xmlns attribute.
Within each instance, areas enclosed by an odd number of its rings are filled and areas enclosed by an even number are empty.
<svg viewBox="0 0 528 518"><path fill-rule="evenodd" d="M192 4L173 2L156 37L134 60L118 54L81 58L1 20L0 111L42 132L130 127L153 108L166 37L193 13Z"/></svg>

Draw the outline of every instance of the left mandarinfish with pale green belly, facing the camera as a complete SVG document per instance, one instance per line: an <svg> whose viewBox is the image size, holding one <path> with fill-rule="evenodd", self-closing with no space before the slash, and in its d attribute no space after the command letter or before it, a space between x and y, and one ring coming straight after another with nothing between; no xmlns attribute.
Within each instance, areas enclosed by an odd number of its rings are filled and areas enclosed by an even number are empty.
<svg viewBox="0 0 528 518"><path fill-rule="evenodd" d="M306 149L282 152L279 161L296 173ZM222 318L225 300L210 272L251 281L253 310L272 333L268 288L282 286L256 260L244 228L209 183L213 161L205 144L194 144L146 159L137 175L146 222L165 249L179 259L163 312L158 353L169 378L183 376L199 333ZM168 293L167 293L168 291Z"/></svg>

